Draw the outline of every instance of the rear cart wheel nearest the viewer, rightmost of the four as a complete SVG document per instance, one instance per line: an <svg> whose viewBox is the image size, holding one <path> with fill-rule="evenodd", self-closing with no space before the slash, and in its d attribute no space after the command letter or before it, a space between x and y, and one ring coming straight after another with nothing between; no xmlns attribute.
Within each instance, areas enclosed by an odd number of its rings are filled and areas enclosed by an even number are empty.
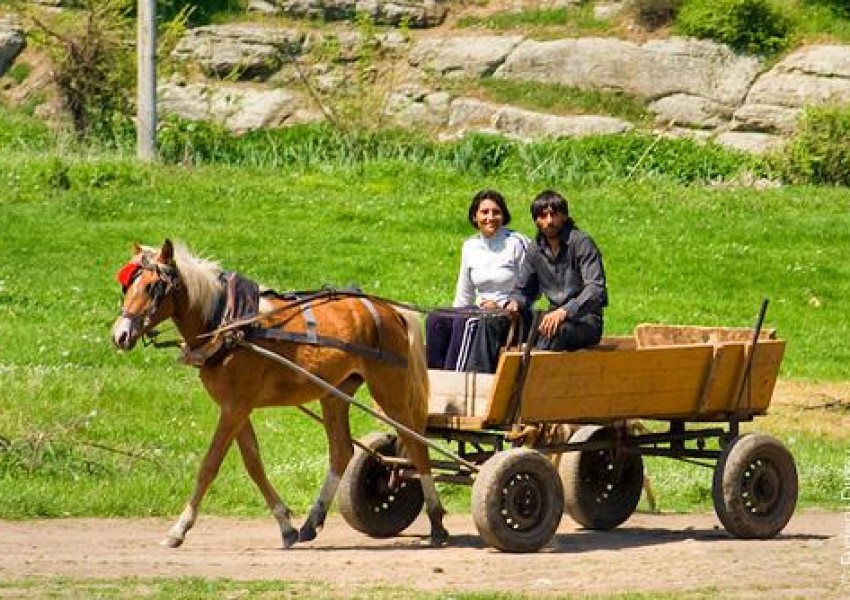
<svg viewBox="0 0 850 600"><path fill-rule="evenodd" d="M772 538L797 505L794 457L769 435L738 436L717 461L711 497L726 531L739 538Z"/></svg>

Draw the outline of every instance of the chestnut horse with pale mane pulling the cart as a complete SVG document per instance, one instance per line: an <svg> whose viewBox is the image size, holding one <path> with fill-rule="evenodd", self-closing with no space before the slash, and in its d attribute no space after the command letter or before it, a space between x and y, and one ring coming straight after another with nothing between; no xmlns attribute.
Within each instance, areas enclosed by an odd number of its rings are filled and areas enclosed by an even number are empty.
<svg viewBox="0 0 850 600"><path fill-rule="evenodd" d="M219 407L218 423L194 489L162 544L172 548L183 544L235 440L245 469L278 522L286 549L314 539L325 522L354 453L349 405L338 395L320 390L294 369L275 364L242 344L218 343L207 351L211 339L215 339L209 334L219 329L215 316L225 294L223 273L217 262L195 256L185 245L171 240L165 240L158 249L134 244L130 262L118 273L124 300L112 328L112 340L120 350L132 350L142 336L171 319L183 339L185 355L196 359L201 381ZM363 295L327 295L308 307L285 296L263 294L258 308L256 325L280 335L253 342L257 346L287 358L349 396L365 382L387 417L409 430L424 432L428 376L422 331L412 310ZM311 330L335 343L299 342ZM354 352L352 348L374 351ZM309 515L296 530L290 509L266 476L251 413L257 408L300 406L317 398L328 439L329 468ZM417 440L404 427L399 427L398 433L422 486L431 525L430 542L443 546L448 542L442 523L445 510L431 473L428 449L421 438Z"/></svg>

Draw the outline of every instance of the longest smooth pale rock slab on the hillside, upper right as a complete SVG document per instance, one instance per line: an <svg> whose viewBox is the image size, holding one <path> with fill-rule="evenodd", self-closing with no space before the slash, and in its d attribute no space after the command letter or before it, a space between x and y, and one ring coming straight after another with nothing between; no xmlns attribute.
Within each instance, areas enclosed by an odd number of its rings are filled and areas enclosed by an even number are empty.
<svg viewBox="0 0 850 600"><path fill-rule="evenodd" d="M623 91L647 99L688 94L737 107L761 70L760 60L709 41L671 38L638 45L614 38L578 38L527 40L496 76Z"/></svg>

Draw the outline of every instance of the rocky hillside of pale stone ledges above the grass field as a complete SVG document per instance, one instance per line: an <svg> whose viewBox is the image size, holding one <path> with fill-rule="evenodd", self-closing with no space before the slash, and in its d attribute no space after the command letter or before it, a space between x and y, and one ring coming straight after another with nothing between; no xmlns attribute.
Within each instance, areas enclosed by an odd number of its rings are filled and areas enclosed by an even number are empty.
<svg viewBox="0 0 850 600"><path fill-rule="evenodd" d="M244 22L190 29L169 57L161 57L171 72L159 82L161 113L217 121L234 131L369 118L441 138L484 131L536 139L643 128L761 152L794 131L806 106L850 102L850 46L800 47L768 64L694 39L535 39L455 26L463 11L504 10L495 3L250 5ZM609 15L621 3L595 8ZM370 22L357 19L358 13L371 15ZM12 20L0 21L0 74L24 50L26 33ZM482 92L486 81L525 86L528 93L625 95L650 118L500 103Z"/></svg>

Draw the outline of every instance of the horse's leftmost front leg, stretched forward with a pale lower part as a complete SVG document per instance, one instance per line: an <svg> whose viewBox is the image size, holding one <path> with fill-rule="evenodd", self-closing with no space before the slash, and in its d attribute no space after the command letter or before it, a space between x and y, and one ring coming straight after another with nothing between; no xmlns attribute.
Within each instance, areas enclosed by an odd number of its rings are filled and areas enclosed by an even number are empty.
<svg viewBox="0 0 850 600"><path fill-rule="evenodd" d="M195 489L189 496L180 518L177 519L177 522L168 530L165 539L162 540L163 546L177 548L186 539L186 533L192 528L198 517L198 507L201 500L204 499L204 495L218 475L221 462L233 443L233 437L246 419L247 415L237 416L230 411L222 410L219 414L218 425L195 480Z"/></svg>

